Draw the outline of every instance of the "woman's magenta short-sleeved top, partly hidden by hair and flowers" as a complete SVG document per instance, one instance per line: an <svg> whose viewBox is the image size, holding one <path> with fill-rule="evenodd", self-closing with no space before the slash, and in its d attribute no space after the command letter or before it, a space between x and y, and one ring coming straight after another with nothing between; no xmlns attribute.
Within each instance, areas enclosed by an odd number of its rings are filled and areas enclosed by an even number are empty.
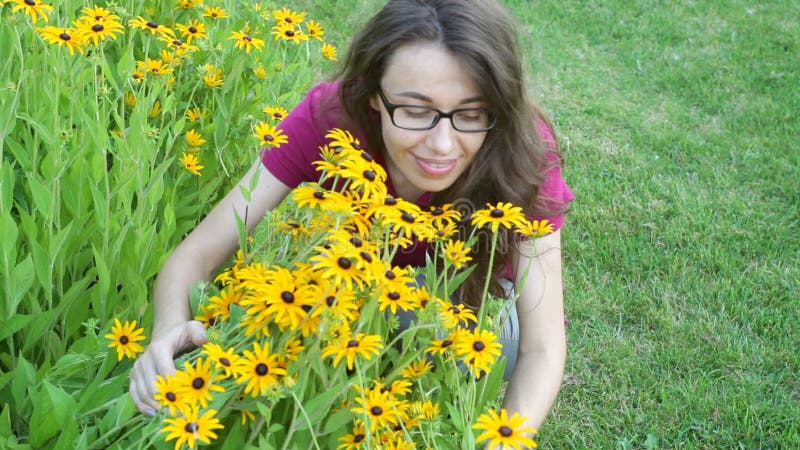
<svg viewBox="0 0 800 450"><path fill-rule="evenodd" d="M262 161L267 170L278 180L289 187L297 187L306 181L319 181L320 172L312 162L320 159L319 148L327 144L325 135L332 128L342 128L338 118L344 115L344 109L338 97L339 82L320 83L309 91L304 98L278 126L289 137L289 142L278 148L272 148L262 153ZM323 103L324 102L324 103ZM321 105L325 105L322 111ZM545 144L556 149L557 144L550 127L539 122L539 133ZM366 145L366 136L362 130L348 129L362 144ZM370 152L375 161L386 167L383 155L380 152ZM552 153L552 158L557 158ZM397 196L391 177L386 179L386 188L389 194ZM567 205L575 198L561 176L561 167L554 164L548 169L544 183L539 187L539 195L547 199L544 204L555 214L531 216L531 220L546 219L557 230L564 224L564 212ZM406 199L409 200L409 199ZM427 209L431 203L431 193L427 192L414 202ZM398 252L393 261L398 265L422 266L425 264L425 252L428 245L414 245L410 250ZM513 278L510 267L506 270L506 278Z"/></svg>

